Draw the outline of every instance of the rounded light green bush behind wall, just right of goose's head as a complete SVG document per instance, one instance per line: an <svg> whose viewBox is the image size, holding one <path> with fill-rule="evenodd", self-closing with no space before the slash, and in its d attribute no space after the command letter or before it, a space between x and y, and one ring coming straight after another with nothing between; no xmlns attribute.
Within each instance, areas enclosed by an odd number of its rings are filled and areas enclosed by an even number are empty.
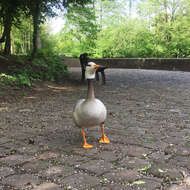
<svg viewBox="0 0 190 190"><path fill-rule="evenodd" d="M152 35L140 20L113 25L99 33L95 57L142 57L151 56Z"/></svg>

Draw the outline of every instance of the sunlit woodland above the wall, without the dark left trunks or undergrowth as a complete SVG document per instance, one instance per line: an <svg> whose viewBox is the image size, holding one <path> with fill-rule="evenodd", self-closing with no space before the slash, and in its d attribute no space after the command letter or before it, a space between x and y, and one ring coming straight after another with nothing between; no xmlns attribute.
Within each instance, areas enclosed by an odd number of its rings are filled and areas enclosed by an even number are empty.
<svg viewBox="0 0 190 190"><path fill-rule="evenodd" d="M0 3L1 36L6 22L2 14L4 3L9 1ZM41 0L28 1L24 8L22 1L18 5L15 5L17 1L13 2L11 11L5 11L5 16L13 17L11 54L31 54L37 17L37 48L45 54L79 56L88 52L92 57L128 58L190 56L189 0L94 0L71 1L68 5ZM47 21L56 16L56 9L61 10L65 25L59 33L51 34ZM0 43L1 51L4 47Z"/></svg>

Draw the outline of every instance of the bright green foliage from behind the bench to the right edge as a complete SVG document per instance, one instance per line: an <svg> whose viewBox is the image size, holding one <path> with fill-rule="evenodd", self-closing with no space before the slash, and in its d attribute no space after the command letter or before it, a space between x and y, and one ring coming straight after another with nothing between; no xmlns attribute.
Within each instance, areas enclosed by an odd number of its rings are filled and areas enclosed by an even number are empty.
<svg viewBox="0 0 190 190"><path fill-rule="evenodd" d="M96 1L95 17L71 9L67 25L57 36L59 49L77 57L82 52L91 57L190 57L188 0L138 1L139 17L135 19L123 13L126 1L120 2ZM96 32L90 30L93 22Z"/></svg>

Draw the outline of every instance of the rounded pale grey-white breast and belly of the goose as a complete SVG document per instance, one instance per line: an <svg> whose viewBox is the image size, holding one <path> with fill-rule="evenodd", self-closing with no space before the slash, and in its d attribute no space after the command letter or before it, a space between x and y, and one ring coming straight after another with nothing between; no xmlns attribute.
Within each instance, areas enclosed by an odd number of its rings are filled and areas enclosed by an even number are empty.
<svg viewBox="0 0 190 190"><path fill-rule="evenodd" d="M80 127L99 125L105 121L106 115L106 107L98 99L80 101L73 114L75 123Z"/></svg>

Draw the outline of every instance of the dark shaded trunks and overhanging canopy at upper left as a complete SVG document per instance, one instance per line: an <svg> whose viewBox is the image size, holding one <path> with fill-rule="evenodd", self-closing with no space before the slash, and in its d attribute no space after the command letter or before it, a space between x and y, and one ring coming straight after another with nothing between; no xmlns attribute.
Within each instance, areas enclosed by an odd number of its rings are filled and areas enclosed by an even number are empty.
<svg viewBox="0 0 190 190"><path fill-rule="evenodd" d="M43 23L47 16L56 15L56 9L69 8L73 4L85 4L88 0L2 0L0 1L0 18L3 23L3 34L0 43L5 42L4 53L9 55L11 48L11 28L12 25L18 25L20 15L33 18L33 57L40 48L39 25Z"/></svg>

